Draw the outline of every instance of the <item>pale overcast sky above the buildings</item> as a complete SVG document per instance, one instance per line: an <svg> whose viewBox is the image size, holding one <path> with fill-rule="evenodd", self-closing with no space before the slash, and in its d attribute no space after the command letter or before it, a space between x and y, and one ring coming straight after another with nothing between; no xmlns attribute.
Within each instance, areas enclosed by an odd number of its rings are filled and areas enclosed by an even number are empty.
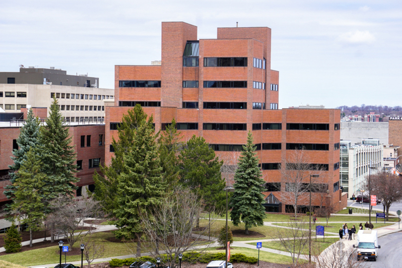
<svg viewBox="0 0 402 268"><path fill-rule="evenodd" d="M401 0L0 0L0 71L88 73L114 88L115 65L161 59L161 22L272 29L279 107L401 103Z"/></svg>

